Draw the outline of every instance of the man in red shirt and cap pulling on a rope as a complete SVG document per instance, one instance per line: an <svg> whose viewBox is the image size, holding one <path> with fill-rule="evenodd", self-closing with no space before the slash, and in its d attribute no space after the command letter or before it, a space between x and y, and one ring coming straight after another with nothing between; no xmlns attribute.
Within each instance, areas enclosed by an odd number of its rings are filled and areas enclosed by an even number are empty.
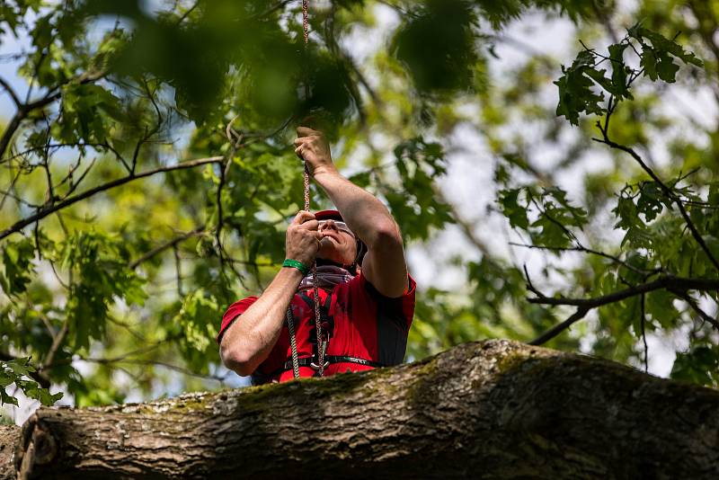
<svg viewBox="0 0 719 480"><path fill-rule="evenodd" d="M299 377L316 375L319 348L324 375L399 364L415 287L399 228L382 202L337 172L321 132L298 128L295 146L339 211L297 213L287 231L288 260L268 288L259 298L235 302L223 316L217 336L222 361L240 375L253 375L253 383L292 379L291 326ZM312 274L307 274L315 259L319 348Z"/></svg>

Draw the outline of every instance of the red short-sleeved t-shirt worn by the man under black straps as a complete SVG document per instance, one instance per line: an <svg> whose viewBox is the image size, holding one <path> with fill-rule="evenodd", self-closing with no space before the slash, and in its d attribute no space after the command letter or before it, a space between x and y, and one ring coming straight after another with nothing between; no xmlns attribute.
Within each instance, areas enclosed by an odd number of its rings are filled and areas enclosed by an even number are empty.
<svg viewBox="0 0 719 480"><path fill-rule="evenodd" d="M324 289L319 290L320 306L328 316L323 318L323 331L329 333L325 355L348 356L371 360L385 366L398 365L404 360L412 317L414 315L415 282L410 277L409 289L399 298L387 298L380 294L361 274L354 279L335 285L330 298ZM294 317L299 358L315 355L316 332L314 292L312 289L296 294L290 303ZM257 297L248 297L232 304L222 317L217 343L233 322L242 322L242 314ZM286 361L291 360L289 333L285 321L270 355L255 370L256 374L268 376L265 380L287 381L293 378L292 369L281 371ZM324 375L338 372L368 370L372 367L359 363L332 363L324 369ZM315 370L300 367L300 377L312 377Z"/></svg>

